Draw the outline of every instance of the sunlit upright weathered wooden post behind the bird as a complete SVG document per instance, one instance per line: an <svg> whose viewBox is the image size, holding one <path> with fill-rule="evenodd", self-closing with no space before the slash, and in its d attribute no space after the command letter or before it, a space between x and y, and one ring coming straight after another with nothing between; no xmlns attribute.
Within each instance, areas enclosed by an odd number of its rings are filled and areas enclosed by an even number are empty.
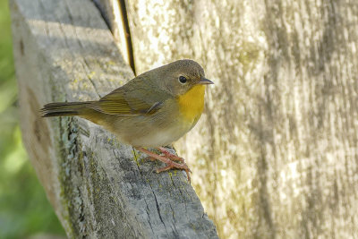
<svg viewBox="0 0 358 239"><path fill-rule="evenodd" d="M216 82L177 149L224 238L358 237L358 2L127 1L137 73Z"/></svg>

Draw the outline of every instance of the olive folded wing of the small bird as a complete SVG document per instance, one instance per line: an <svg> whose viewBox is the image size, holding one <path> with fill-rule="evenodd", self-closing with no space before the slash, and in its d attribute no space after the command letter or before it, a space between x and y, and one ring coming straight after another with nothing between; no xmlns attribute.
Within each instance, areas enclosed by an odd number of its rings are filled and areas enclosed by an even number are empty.
<svg viewBox="0 0 358 239"><path fill-rule="evenodd" d="M156 113L170 95L163 90L159 91L141 79L135 80L100 98L92 108L108 115L151 115Z"/></svg>

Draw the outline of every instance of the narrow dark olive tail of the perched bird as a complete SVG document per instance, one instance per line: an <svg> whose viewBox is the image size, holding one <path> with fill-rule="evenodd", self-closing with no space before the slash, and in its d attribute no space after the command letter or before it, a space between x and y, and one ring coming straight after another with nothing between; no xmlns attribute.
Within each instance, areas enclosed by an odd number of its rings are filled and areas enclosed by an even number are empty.
<svg viewBox="0 0 358 239"><path fill-rule="evenodd" d="M43 117L82 115L92 101L49 103L41 108Z"/></svg>

